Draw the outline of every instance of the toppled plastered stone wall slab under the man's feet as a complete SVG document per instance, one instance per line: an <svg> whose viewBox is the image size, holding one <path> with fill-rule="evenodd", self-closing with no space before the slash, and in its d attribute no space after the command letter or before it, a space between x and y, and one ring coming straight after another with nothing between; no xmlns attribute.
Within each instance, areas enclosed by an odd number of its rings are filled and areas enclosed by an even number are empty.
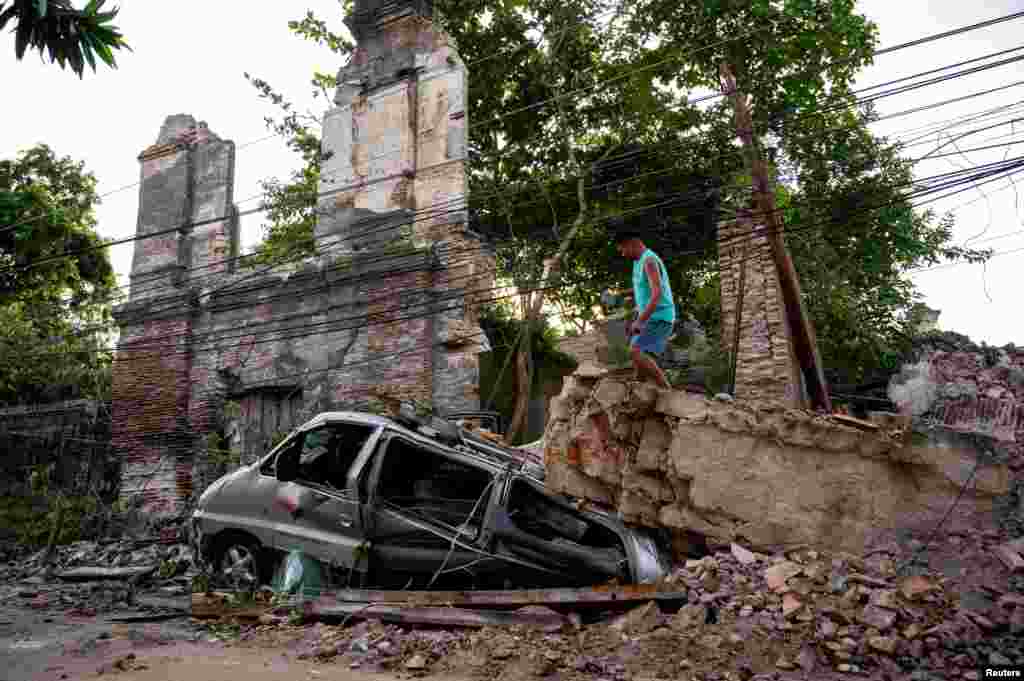
<svg viewBox="0 0 1024 681"><path fill-rule="evenodd" d="M721 401L579 369L552 400L547 484L629 522L758 547L862 551L927 531L969 478L949 527L991 522L1006 466L946 438L913 442L908 421L843 425L777 402Z"/></svg>

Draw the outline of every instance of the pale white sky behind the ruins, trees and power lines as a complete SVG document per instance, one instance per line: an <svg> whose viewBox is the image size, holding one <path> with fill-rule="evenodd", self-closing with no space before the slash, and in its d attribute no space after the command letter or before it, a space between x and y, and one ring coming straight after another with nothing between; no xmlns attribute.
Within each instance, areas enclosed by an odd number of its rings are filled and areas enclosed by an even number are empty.
<svg viewBox="0 0 1024 681"><path fill-rule="evenodd" d="M111 239L130 238L135 233L138 210L136 157L156 141L167 116L191 114L239 145L234 197L242 210L254 208L259 205L260 181L287 177L298 161L280 138L266 138L269 133L264 117L274 115L275 110L257 97L244 74L263 78L300 108L321 116L326 102L323 98L313 101L310 75L314 69L334 73L341 66L339 57L326 48L288 30L288 22L300 18L307 9L328 20L335 31L342 29L337 0L125 1L117 24L134 51L119 53L117 71L100 68L96 74L88 72L81 81L71 72L41 62L35 53L15 61L13 39L4 36L0 38L0 83L8 98L0 108L0 158L11 158L45 142L60 156L84 161L98 178L99 193L108 195L97 209L99 233ZM881 46L887 47L1020 11L1024 0L860 0L858 9L878 24ZM861 74L858 85L866 87L1017 47L1022 44L1022 35L1024 19L1017 19L883 54ZM898 113L1024 81L1022 65L888 97L878 109L883 115ZM17 93L16 98L13 93ZM894 118L874 125L873 130L906 138L914 130L925 132L929 124L1021 101L1024 85ZM1024 117L1022 105L978 127L1016 118L1012 116L1015 111ZM957 132L969 129L958 128ZM1005 125L956 143L965 150L1011 139L1024 139L1024 120L1013 128ZM922 143L912 151L924 156L946 140L931 134L921 140L931 144ZM954 148L950 145L943 151ZM991 163L1006 154L1010 158L1024 156L1024 144L928 160L918 165L918 174L930 176ZM976 342L1024 344L1024 314L1017 302L1024 281L1024 173L1017 177L1021 180L1017 196L1015 187L1004 180L929 206L938 213L953 211L955 244L991 248L998 253L996 257L984 266L957 264L910 274L924 294L924 302L941 310L939 328L966 334ZM261 235L261 216L244 217L242 250L250 250ZM133 248L131 243L111 248L122 285L127 284Z"/></svg>

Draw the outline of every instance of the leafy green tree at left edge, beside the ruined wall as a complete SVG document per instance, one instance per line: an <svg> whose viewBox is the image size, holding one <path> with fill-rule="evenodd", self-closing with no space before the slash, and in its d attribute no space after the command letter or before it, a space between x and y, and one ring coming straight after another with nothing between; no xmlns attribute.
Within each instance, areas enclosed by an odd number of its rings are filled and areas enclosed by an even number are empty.
<svg viewBox="0 0 1024 681"><path fill-rule="evenodd" d="M109 393L115 278L90 250L98 202L84 164L46 145L0 161L0 402Z"/></svg>

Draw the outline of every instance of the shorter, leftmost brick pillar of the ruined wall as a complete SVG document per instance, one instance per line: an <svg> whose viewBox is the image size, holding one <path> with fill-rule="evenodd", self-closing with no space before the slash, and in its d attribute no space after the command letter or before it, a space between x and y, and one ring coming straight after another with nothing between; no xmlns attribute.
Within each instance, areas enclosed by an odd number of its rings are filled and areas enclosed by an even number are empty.
<svg viewBox="0 0 1024 681"><path fill-rule="evenodd" d="M196 302L231 268L234 145L186 115L168 117L139 156L141 190L129 300L114 364L112 438L122 496L175 513L191 493L208 377L195 363Z"/></svg>

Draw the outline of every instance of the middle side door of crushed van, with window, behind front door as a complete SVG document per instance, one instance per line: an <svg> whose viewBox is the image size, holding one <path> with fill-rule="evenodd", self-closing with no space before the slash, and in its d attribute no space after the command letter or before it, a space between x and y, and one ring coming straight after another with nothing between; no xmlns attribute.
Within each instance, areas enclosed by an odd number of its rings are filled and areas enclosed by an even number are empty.
<svg viewBox="0 0 1024 681"><path fill-rule="evenodd" d="M375 585L465 586L493 567L481 549L498 481L496 471L440 448L396 433L382 439L370 478L367 528Z"/></svg>

